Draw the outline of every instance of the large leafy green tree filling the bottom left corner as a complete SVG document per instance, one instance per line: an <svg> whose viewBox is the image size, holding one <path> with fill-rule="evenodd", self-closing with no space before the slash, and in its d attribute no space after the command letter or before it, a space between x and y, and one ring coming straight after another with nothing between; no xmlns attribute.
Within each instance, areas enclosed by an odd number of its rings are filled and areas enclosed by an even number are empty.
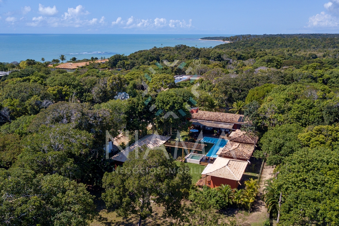
<svg viewBox="0 0 339 226"><path fill-rule="evenodd" d="M97 218L86 186L58 174L0 169L0 225L79 225Z"/></svg>

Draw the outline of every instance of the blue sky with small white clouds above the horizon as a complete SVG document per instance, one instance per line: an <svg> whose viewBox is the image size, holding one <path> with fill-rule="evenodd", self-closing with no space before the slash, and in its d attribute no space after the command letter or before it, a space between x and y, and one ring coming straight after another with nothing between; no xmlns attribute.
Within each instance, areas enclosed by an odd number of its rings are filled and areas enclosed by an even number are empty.
<svg viewBox="0 0 339 226"><path fill-rule="evenodd" d="M0 33L339 33L339 0L0 0Z"/></svg>

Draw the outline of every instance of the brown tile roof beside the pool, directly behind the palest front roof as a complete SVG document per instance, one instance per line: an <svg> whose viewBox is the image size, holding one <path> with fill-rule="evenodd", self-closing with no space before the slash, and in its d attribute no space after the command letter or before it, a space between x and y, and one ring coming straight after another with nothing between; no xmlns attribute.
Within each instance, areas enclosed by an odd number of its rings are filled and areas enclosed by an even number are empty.
<svg viewBox="0 0 339 226"><path fill-rule="evenodd" d="M254 145L228 141L223 147L220 157L233 159L250 159L254 151Z"/></svg>

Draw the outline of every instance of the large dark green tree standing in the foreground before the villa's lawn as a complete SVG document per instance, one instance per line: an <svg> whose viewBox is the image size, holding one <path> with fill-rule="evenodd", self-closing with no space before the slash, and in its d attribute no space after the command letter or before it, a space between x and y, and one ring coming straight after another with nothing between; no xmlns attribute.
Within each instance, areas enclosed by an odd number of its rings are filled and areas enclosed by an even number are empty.
<svg viewBox="0 0 339 226"><path fill-rule="evenodd" d="M122 167L106 172L102 179L106 206L115 206L122 216L137 214L138 226L153 212L152 202L162 205L167 217L175 216L184 191L191 187L192 176L184 163L179 168L172 157L166 158L164 151L134 150Z"/></svg>

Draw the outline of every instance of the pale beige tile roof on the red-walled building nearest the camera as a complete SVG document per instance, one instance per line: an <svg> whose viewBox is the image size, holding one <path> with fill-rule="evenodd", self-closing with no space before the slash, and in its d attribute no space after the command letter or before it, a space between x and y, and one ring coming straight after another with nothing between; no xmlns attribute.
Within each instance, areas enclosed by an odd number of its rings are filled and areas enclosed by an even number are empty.
<svg viewBox="0 0 339 226"><path fill-rule="evenodd" d="M240 181L247 166L247 161L217 157L213 164L208 164L201 174Z"/></svg>

